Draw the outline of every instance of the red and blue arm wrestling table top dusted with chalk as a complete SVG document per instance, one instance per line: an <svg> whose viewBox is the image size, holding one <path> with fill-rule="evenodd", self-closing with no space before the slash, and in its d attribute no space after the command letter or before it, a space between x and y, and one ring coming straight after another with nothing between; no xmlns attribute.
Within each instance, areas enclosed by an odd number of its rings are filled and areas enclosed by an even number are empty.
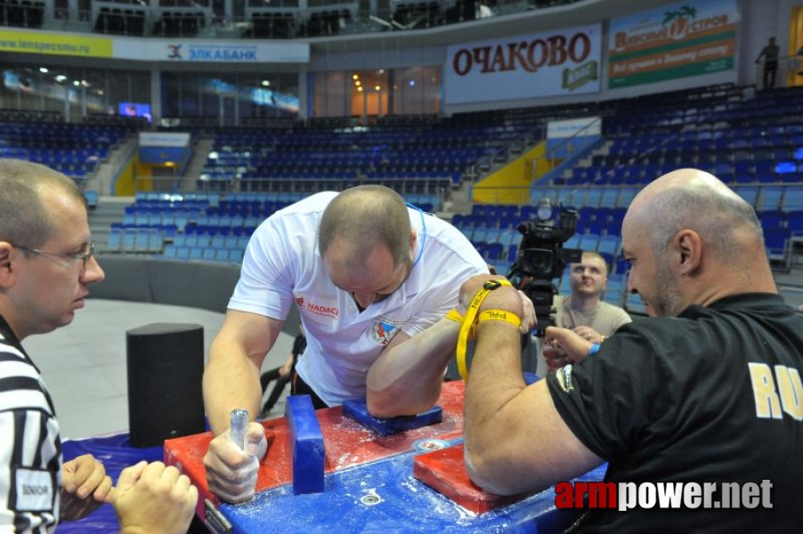
<svg viewBox="0 0 803 534"><path fill-rule="evenodd" d="M559 532L579 511L557 510L550 488L475 514L413 476L418 455L462 444L462 381L443 384L442 422L381 436L345 417L342 407L315 412L325 447L324 490L295 495L285 417L263 421L270 447L255 498L221 503L208 490L203 457L211 433L165 441L165 462L199 488L199 518L217 532ZM533 445L536 446L535 444ZM600 481L604 466L581 477Z"/></svg>

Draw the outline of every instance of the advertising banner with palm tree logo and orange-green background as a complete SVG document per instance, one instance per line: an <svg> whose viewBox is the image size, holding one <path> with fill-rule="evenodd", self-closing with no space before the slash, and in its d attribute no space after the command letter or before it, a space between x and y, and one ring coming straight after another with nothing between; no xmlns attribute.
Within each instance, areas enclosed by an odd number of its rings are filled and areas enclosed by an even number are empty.
<svg viewBox="0 0 803 534"><path fill-rule="evenodd" d="M608 88L734 68L736 0L672 4L611 21Z"/></svg>

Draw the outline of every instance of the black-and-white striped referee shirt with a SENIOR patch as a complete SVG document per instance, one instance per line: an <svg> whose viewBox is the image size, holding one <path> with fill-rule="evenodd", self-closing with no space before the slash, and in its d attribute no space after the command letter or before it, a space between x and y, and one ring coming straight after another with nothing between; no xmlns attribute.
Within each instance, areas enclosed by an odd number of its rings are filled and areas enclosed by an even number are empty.
<svg viewBox="0 0 803 534"><path fill-rule="evenodd" d="M53 532L61 438L39 369L0 317L0 531Z"/></svg>

